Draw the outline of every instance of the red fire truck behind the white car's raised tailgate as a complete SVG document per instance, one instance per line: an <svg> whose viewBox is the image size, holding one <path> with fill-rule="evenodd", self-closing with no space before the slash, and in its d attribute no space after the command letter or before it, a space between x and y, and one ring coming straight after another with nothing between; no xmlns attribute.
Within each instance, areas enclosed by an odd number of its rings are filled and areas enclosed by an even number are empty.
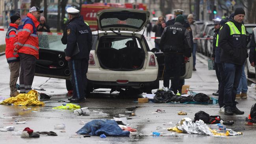
<svg viewBox="0 0 256 144"><path fill-rule="evenodd" d="M102 9L111 9L111 8L136 8L147 10L147 5L145 4L113 4L113 3L94 3L94 4L83 4L80 14L83 15L83 19L87 22L91 28L91 31L98 30L96 13Z"/></svg>

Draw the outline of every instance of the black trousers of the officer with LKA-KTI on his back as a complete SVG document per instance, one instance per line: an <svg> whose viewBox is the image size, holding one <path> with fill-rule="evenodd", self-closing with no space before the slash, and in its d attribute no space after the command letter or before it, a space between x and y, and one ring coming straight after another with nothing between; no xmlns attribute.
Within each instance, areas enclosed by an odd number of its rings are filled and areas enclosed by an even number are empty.
<svg viewBox="0 0 256 144"><path fill-rule="evenodd" d="M173 92L176 94L177 90L180 87L180 74L181 67L183 62L183 55L171 53L165 55L165 71L163 76L163 86L170 86L170 77L173 76L172 79L172 87Z"/></svg>

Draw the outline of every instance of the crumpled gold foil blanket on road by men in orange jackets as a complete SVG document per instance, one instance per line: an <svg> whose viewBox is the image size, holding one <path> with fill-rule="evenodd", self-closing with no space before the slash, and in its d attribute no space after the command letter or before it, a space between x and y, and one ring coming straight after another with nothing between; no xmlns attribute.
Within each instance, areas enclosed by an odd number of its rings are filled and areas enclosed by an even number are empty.
<svg viewBox="0 0 256 144"><path fill-rule="evenodd" d="M38 100L38 92L36 90L30 90L27 94L19 94L15 97L7 98L0 104L45 105L44 102Z"/></svg>

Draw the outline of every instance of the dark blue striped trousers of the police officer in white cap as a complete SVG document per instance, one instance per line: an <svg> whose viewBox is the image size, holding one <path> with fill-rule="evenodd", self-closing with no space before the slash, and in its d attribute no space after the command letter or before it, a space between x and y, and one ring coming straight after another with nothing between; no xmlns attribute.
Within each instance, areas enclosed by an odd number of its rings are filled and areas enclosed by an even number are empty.
<svg viewBox="0 0 256 144"><path fill-rule="evenodd" d="M69 61L69 69L72 76L73 98L84 99L88 59L71 59Z"/></svg>

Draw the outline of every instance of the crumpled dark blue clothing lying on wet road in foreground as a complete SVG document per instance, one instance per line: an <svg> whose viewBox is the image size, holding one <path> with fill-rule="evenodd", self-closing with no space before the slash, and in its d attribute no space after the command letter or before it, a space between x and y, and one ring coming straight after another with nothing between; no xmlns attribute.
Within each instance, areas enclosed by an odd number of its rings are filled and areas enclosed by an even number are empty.
<svg viewBox="0 0 256 144"><path fill-rule="evenodd" d="M129 137L130 131L122 131L115 120L92 120L76 132L80 135L101 135L106 136L127 136Z"/></svg>

